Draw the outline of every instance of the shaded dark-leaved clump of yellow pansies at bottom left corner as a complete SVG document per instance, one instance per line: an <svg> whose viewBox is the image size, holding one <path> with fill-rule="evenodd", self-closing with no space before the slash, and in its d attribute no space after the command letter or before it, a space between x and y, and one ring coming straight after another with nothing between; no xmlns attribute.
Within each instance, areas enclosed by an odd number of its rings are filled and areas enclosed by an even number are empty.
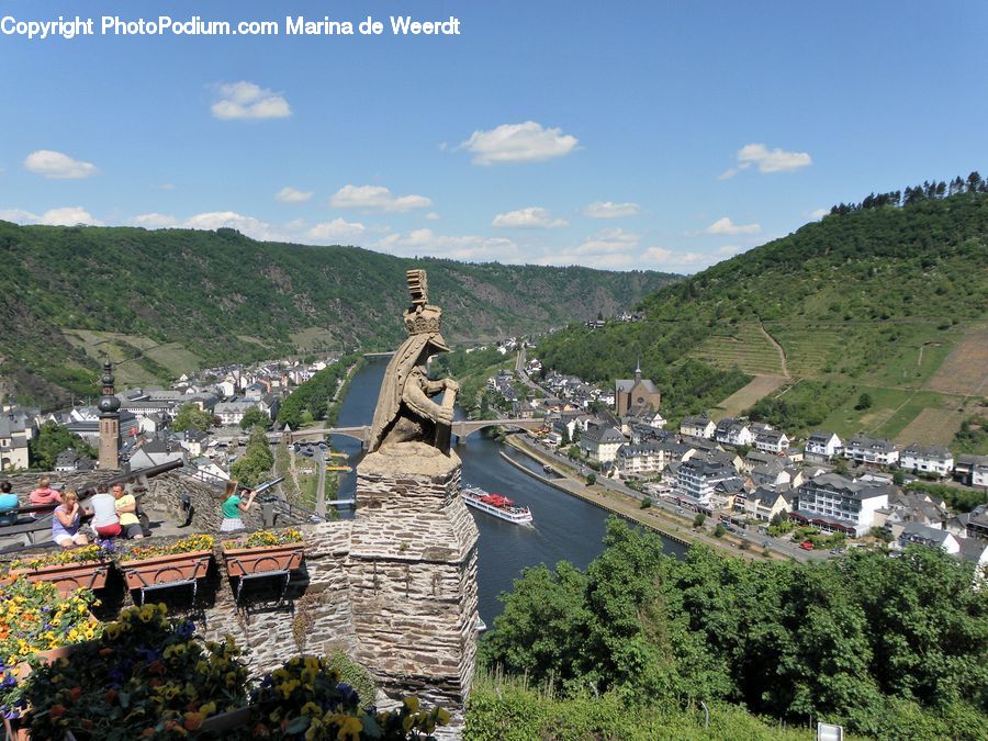
<svg viewBox="0 0 988 741"><path fill-rule="evenodd" d="M194 737L209 717L246 705L247 678L232 639L205 641L164 605L132 607L98 640L35 670L25 720L34 739Z"/></svg>

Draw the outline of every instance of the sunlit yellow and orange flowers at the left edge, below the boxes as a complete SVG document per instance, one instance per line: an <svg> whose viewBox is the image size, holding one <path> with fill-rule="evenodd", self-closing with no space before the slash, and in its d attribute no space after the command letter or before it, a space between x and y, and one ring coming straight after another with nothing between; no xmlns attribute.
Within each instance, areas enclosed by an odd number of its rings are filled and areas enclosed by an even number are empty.
<svg viewBox="0 0 988 741"><path fill-rule="evenodd" d="M69 595L49 582L19 579L0 588L0 715L11 738L27 705L32 670L99 637L101 626L89 611L97 604L89 590Z"/></svg>

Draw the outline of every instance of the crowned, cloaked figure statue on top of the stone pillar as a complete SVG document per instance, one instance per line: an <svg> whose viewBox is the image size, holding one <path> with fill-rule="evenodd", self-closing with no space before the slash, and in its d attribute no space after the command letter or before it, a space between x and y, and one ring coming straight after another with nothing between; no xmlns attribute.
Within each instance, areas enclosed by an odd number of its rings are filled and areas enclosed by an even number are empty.
<svg viewBox="0 0 988 741"><path fill-rule="evenodd" d="M452 379L430 381L426 364L449 347L439 334L442 312L428 303L425 270L408 270L412 306L405 312L408 339L394 353L378 395L370 431L370 452L400 442L426 442L449 452L450 425L460 385ZM444 392L437 403L431 396Z"/></svg>

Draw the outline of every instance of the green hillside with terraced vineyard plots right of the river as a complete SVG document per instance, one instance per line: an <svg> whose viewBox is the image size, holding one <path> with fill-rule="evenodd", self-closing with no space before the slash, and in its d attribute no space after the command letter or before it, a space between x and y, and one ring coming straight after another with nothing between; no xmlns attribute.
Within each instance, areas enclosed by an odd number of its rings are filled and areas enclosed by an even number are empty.
<svg viewBox="0 0 988 741"><path fill-rule="evenodd" d="M701 363L715 380L732 370L775 378L752 416L794 433L824 426L950 442L988 393L988 195L834 213L642 307L640 324L571 327L540 353L594 380L627 377L640 353L673 416L727 414L710 394L683 388L678 377ZM725 400L742 383L715 385ZM871 404L858 404L862 394ZM742 411L736 400L730 412Z"/></svg>

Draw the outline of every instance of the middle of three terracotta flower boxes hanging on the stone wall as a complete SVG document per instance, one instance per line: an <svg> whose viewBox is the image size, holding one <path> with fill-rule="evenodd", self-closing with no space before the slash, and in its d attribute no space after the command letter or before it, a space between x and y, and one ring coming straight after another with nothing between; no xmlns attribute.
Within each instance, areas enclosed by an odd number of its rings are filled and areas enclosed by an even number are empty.
<svg viewBox="0 0 988 741"><path fill-rule="evenodd" d="M198 534L169 544L131 546L117 565L127 581L127 588L142 590L202 579L212 557L213 536Z"/></svg>

